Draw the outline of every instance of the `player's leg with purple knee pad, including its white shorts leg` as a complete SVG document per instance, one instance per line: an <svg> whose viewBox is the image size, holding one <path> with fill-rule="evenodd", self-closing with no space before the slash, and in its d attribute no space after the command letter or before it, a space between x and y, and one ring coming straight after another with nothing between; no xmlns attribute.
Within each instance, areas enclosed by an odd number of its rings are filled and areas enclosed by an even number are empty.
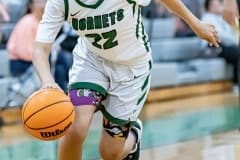
<svg viewBox="0 0 240 160"><path fill-rule="evenodd" d="M108 81L101 65L94 57L87 53L84 55L84 51L79 52L81 55L73 54L74 62L69 74L69 96L76 106L76 116L71 130L60 141L59 160L81 160L82 144L93 114L107 95Z"/></svg>

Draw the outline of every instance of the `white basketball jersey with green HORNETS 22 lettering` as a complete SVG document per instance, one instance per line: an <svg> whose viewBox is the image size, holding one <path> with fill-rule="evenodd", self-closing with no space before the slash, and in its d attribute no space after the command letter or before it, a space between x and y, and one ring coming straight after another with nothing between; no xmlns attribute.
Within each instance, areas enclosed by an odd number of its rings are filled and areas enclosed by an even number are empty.
<svg viewBox="0 0 240 160"><path fill-rule="evenodd" d="M56 26L61 21L57 15L63 12L65 20L81 37L78 45L84 44L90 52L113 62L146 62L151 57L150 44L140 12L141 6L148 5L149 2L150 0L49 0L37 39L44 41L51 35L49 32L54 32L53 27L51 29L47 25L55 23ZM50 9L52 11L48 12ZM54 11L57 13L54 14ZM49 36L44 37L41 33Z"/></svg>

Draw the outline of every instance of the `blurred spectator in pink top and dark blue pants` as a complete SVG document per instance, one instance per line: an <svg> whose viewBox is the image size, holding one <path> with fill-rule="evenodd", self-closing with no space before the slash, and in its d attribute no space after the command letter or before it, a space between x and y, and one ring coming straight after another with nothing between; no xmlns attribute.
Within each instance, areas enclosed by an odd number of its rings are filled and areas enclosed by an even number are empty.
<svg viewBox="0 0 240 160"><path fill-rule="evenodd" d="M19 76L32 65L33 45L46 0L29 0L30 13L23 16L10 35L7 50L10 54L12 76Z"/></svg>

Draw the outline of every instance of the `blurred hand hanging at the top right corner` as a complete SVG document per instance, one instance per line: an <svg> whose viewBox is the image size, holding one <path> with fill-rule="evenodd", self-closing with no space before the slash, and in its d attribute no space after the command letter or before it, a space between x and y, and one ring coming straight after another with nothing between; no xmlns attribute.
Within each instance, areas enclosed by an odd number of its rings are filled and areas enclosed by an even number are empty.
<svg viewBox="0 0 240 160"><path fill-rule="evenodd" d="M236 0L224 0L223 18L232 26L237 25L239 18L238 7Z"/></svg>

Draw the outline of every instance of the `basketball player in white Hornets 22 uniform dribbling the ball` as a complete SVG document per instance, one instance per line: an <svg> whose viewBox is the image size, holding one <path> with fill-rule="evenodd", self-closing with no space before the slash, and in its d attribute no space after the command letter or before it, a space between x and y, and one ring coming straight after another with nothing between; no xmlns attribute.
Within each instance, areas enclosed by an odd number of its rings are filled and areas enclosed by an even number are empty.
<svg viewBox="0 0 240 160"><path fill-rule="evenodd" d="M63 22L68 21L80 37L69 74L69 96L76 106L76 118L70 132L60 140L59 160L81 159L96 110L101 110L104 117L101 157L138 159L142 125L137 117L150 88L152 68L140 11L149 1L48 0L33 60L42 88L58 88L48 57ZM200 38L218 46L214 26L199 21L180 0L161 3L184 19Z"/></svg>

